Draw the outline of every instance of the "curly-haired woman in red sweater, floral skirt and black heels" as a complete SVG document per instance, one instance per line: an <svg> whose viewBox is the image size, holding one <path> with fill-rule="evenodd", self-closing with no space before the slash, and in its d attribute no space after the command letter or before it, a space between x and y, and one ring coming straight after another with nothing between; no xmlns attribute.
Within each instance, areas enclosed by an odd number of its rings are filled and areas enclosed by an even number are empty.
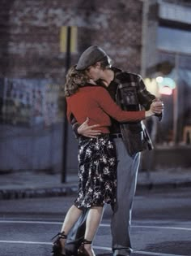
<svg viewBox="0 0 191 256"><path fill-rule="evenodd" d="M54 256L65 255L67 234L83 209L89 208L84 241L78 254L94 256L91 242L99 227L104 203L112 204L116 199L117 158L109 137L109 115L119 122L130 122L145 119L154 113L151 110L121 111L104 87L90 82L86 72L77 71L75 67L67 73L65 94L68 120L74 116L79 124L83 124L88 117L90 125L100 124L101 134L96 138L79 137L79 192L66 214L62 231L53 244L53 252Z"/></svg>

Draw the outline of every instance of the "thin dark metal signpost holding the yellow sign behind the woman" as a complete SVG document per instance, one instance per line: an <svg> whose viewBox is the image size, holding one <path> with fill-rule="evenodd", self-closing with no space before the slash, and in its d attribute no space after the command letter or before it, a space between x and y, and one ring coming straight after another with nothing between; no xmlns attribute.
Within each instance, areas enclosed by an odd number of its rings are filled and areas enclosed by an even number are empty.
<svg viewBox="0 0 191 256"><path fill-rule="evenodd" d="M66 43L66 72L70 67L70 41L71 28L67 28L67 43ZM63 124L63 146L62 146L62 183L66 182L67 173L67 148L68 148L68 122L66 119L66 99L64 98L64 124Z"/></svg>

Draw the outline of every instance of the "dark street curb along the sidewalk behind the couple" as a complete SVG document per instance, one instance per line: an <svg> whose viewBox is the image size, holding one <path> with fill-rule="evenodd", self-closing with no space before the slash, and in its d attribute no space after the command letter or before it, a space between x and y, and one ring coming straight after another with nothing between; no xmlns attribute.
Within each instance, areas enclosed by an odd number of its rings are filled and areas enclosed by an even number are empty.
<svg viewBox="0 0 191 256"><path fill-rule="evenodd" d="M168 183L147 183L138 184L137 191L152 189L180 189L191 187L191 181L168 182ZM0 200L22 199L22 198L40 198L40 197L63 197L76 195L78 186L55 187L45 189L2 189L0 190Z"/></svg>

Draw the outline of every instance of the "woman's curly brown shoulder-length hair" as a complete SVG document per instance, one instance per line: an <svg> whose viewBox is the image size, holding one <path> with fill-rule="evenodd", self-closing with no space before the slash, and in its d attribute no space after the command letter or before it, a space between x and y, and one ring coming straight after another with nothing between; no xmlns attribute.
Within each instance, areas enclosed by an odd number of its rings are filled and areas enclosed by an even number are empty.
<svg viewBox="0 0 191 256"><path fill-rule="evenodd" d="M79 71L75 69L75 66L70 67L66 74L66 84L65 84L65 96L69 97L76 93L80 87L87 85L90 80L87 76L86 71Z"/></svg>

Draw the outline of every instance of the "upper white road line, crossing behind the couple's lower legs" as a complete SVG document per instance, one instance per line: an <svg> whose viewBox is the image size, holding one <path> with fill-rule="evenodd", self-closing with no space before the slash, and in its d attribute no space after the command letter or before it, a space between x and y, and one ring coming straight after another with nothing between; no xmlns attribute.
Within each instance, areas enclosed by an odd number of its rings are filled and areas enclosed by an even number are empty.
<svg viewBox="0 0 191 256"><path fill-rule="evenodd" d="M32 221L32 220L0 220L0 223L48 224L48 225L61 225L62 224L62 222L58 222L58 221ZM110 228L110 224L101 223L100 227ZM132 225L131 228L159 228L159 229L175 229L175 230L191 231L191 228L144 226L144 225Z"/></svg>

